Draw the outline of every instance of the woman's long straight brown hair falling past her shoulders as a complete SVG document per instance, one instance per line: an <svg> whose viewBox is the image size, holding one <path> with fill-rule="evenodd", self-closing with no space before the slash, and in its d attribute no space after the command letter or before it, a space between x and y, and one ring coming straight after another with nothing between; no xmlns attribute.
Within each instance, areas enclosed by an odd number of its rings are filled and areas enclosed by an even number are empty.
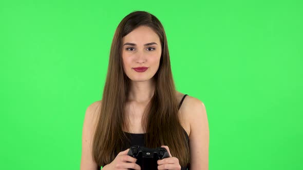
<svg viewBox="0 0 303 170"><path fill-rule="evenodd" d="M142 118L146 132L145 147L167 145L181 166L190 163L190 149L179 121L179 103L171 70L167 39L159 19L146 11L134 11L125 16L118 25L112 39L109 66L102 96L96 131L93 138L92 156L97 164L104 166L121 152L123 143L130 141L124 116L130 79L123 71L122 38L139 26L153 29L161 41L159 69L154 75L155 93L150 99Z"/></svg>

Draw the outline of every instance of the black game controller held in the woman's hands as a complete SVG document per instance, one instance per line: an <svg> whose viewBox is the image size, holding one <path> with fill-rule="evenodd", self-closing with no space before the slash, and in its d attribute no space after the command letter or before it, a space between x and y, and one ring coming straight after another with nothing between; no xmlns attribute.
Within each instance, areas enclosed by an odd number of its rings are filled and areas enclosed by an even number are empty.
<svg viewBox="0 0 303 170"><path fill-rule="evenodd" d="M157 170L157 161L169 157L164 147L148 148L139 145L131 146L127 155L137 159L136 164L141 167L141 170Z"/></svg>

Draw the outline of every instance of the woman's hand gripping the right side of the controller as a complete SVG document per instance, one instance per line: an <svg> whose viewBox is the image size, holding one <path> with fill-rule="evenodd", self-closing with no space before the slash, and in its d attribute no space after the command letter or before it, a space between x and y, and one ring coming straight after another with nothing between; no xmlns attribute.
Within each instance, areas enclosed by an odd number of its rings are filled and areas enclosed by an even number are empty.
<svg viewBox="0 0 303 170"><path fill-rule="evenodd" d="M159 159L158 169L169 169L169 170L181 170L181 165L179 164L179 159L176 157L172 157L171 152L169 152L168 146L162 145L161 147L166 148L169 158Z"/></svg>

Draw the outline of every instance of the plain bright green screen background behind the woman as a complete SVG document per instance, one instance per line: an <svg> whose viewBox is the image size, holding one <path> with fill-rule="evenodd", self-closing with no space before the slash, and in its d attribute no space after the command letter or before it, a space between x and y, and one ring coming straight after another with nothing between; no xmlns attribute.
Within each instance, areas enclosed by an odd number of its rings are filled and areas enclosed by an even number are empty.
<svg viewBox="0 0 303 170"><path fill-rule="evenodd" d="M1 169L79 169L113 33L162 22L177 90L200 99L209 169L303 169L301 1L0 3Z"/></svg>

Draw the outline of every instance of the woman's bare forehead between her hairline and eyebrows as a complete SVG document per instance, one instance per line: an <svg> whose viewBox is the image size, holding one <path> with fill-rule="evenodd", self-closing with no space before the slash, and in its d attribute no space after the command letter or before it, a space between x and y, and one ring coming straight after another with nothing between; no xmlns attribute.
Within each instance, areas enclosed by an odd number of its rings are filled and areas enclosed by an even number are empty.
<svg viewBox="0 0 303 170"><path fill-rule="evenodd" d="M123 37L124 42L133 42L135 44L146 44L147 42L159 42L158 34L147 26L140 26L132 30L129 34Z"/></svg>

